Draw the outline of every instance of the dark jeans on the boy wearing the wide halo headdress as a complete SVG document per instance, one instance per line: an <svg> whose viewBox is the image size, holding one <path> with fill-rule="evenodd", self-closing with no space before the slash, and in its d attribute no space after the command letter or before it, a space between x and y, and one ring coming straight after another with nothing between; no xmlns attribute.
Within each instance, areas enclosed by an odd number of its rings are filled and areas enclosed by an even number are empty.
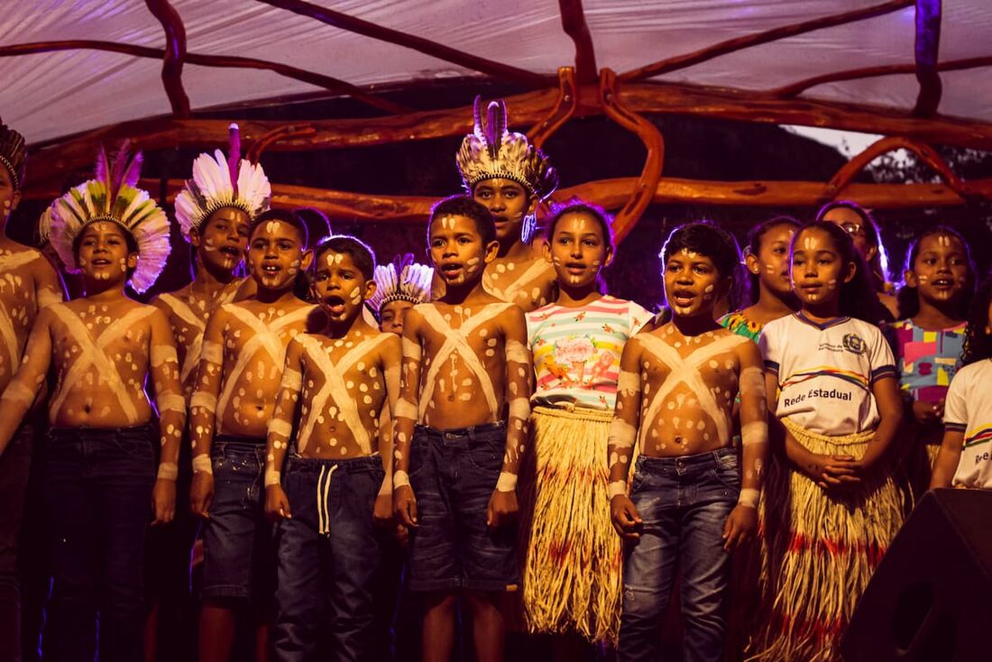
<svg viewBox="0 0 992 662"><path fill-rule="evenodd" d="M158 425L49 434L45 501L55 577L45 659L92 662L98 646L101 662L141 660Z"/></svg>

